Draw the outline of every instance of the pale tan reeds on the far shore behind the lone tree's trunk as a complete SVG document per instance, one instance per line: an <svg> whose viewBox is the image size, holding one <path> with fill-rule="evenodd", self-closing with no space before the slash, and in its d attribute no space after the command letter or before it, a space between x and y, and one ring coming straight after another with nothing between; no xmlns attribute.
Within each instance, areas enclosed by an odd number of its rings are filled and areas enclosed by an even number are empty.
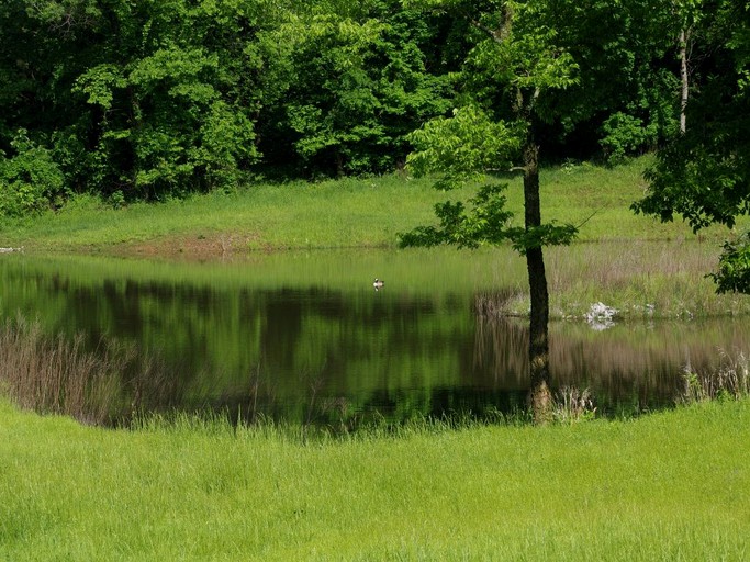
<svg viewBox="0 0 750 562"><path fill-rule="evenodd" d="M716 293L706 277L717 249L696 240L582 243L546 250L550 316L583 319L592 304L616 311L615 321L697 319L750 313L750 297ZM519 271L518 274L523 274ZM502 272L496 273L497 286ZM525 286L478 293L477 308L490 314L526 316Z"/></svg>

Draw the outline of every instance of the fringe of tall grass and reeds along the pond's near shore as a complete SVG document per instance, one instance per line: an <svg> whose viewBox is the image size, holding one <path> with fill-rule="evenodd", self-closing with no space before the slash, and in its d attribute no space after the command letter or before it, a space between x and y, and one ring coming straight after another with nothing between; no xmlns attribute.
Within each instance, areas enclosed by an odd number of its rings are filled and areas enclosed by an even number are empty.
<svg viewBox="0 0 750 562"><path fill-rule="evenodd" d="M482 321L482 316L479 321ZM492 329L492 326L488 326L486 329ZM30 323L20 316L14 322L7 321L0 327L0 355L3 357L0 363L0 391L12 397L20 406L42 414L69 415L94 425L135 424L136 427L157 419L154 413L145 414L143 417L142 406L158 404L159 409L164 411L168 404L164 396L175 396L179 392L167 382L176 378L168 376L156 358L141 357L133 346L102 340L99 348L91 351L82 349L81 342L81 336L68 340L61 334L56 337L45 335L38 322ZM690 366L685 366L685 392L681 402L717 397L740 400L750 395L750 368L743 352L721 352L719 359L716 368L704 372L694 371ZM553 361L564 361L564 358L557 357ZM320 438L334 435L342 437L352 432L398 432L401 427L378 416L360 419L356 415L347 415L346 403L339 405L322 401L318 404L315 397L313 391L310 403L305 406L307 414L300 427L279 427L291 429L291 434L303 441L310 436ZM561 387L555 392L552 419L556 422L593 419L596 411L596 397L587 389ZM169 409L166 412L168 415L158 419L173 419ZM237 413L237 419L232 419L228 412L216 413L216 416L238 425L277 425L273 420L256 414L254 412L247 417ZM638 412L634 409L617 413L623 414L637 415ZM211 419L212 414L203 415ZM327 422L321 425L320 416ZM455 413L444 419L422 420L428 425L454 428L471 427L478 423L529 422L527 413L522 409L504 413L488 411L479 418L470 413ZM282 424L286 422L282 420Z"/></svg>

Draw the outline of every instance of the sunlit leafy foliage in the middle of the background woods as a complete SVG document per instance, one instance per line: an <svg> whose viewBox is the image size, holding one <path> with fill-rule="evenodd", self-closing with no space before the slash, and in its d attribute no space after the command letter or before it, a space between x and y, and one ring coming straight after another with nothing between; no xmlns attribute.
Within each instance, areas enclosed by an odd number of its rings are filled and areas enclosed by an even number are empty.
<svg viewBox="0 0 750 562"><path fill-rule="evenodd" d="M381 1L302 13L279 29L278 41L292 45L287 136L309 171L385 171L403 161L407 133L448 108L446 78L425 69L421 43L430 33L424 18Z"/></svg>

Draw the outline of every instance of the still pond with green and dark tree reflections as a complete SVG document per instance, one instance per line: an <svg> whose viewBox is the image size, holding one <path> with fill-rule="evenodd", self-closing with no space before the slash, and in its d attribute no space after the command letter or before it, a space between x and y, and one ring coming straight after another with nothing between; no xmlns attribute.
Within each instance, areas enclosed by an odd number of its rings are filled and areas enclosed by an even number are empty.
<svg viewBox="0 0 750 562"><path fill-rule="evenodd" d="M528 387L525 319L477 307L524 291L524 261L504 249L210 262L13 255L0 260L0 282L3 317L81 334L90 350L114 339L148 357L146 380L119 385L127 395L117 404L131 408L401 422L508 412ZM552 322L552 383L590 389L602 412L670 405L686 366L710 369L719 350L747 345L746 319Z"/></svg>

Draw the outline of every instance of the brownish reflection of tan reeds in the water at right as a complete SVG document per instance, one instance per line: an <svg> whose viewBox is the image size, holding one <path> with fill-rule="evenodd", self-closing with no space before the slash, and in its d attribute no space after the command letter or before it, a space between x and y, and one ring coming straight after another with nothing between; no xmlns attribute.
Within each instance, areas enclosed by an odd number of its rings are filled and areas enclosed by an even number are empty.
<svg viewBox="0 0 750 562"><path fill-rule="evenodd" d="M475 296L474 364L478 371L493 373L503 387L525 389L528 326L523 318L506 315L506 304L514 297L508 292ZM590 389L604 413L672 404L683 387L686 364L702 372L717 368L718 344L706 345L706 334L742 349L745 334L729 329L716 335L699 323L631 322L595 330L583 321L553 322L552 386Z"/></svg>

